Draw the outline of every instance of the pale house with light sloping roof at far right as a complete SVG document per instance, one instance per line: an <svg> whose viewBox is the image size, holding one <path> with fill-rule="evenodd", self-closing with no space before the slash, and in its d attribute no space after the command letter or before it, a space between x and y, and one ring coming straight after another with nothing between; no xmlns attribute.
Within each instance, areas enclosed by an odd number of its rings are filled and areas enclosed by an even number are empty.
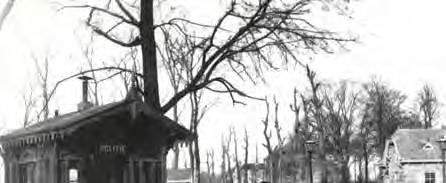
<svg viewBox="0 0 446 183"><path fill-rule="evenodd" d="M386 141L383 154L384 183L443 182L439 140L444 129L398 129Z"/></svg>

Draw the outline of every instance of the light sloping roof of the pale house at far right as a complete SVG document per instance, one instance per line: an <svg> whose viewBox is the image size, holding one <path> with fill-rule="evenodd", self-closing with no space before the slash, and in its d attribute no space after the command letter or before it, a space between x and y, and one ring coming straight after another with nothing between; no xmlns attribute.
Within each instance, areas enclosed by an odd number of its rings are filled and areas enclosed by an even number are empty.
<svg viewBox="0 0 446 183"><path fill-rule="evenodd" d="M398 129L391 141L403 161L438 160L441 159L441 151L437 140L443 135L446 135L444 129Z"/></svg>

